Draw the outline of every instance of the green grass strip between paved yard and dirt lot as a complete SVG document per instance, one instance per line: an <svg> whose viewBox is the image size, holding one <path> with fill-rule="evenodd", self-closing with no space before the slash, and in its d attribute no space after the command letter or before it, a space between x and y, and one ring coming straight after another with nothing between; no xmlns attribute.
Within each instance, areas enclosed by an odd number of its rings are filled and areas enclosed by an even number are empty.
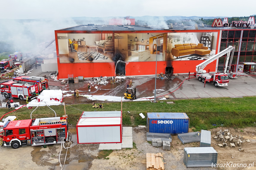
<svg viewBox="0 0 256 170"><path fill-rule="evenodd" d="M145 116L147 112L185 112L190 118L190 128L194 131L201 129L212 129L214 127L256 127L256 97L244 98L202 98L172 100L174 104L151 103L150 101L123 102L123 125L137 126L146 125L146 118L142 119L139 113ZM63 106L50 106L57 116L64 115ZM8 115L17 116L17 119L30 119L32 109L21 108ZM66 114L68 114L69 124L77 124L77 119L82 111L120 111L121 103L104 103L104 109L92 108L92 104L66 104ZM127 112L130 111L130 114ZM0 115L8 113L7 108L0 109ZM4 116L7 117L8 115ZM32 119L43 117L54 117L54 112L47 106L38 107L32 113ZM146 116L147 117L147 116ZM214 126L213 124L216 124Z"/></svg>

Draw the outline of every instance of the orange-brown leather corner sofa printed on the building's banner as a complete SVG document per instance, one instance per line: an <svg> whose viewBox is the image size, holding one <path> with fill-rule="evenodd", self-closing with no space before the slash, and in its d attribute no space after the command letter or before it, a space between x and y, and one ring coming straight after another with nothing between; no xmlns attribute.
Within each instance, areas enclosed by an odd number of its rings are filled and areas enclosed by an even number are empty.
<svg viewBox="0 0 256 170"><path fill-rule="evenodd" d="M187 43L187 44L176 44L175 48L171 49L171 54L175 57L185 56L189 54L198 54L198 55L206 55L210 54L211 50L208 50L208 47L203 46L203 44L199 43Z"/></svg>

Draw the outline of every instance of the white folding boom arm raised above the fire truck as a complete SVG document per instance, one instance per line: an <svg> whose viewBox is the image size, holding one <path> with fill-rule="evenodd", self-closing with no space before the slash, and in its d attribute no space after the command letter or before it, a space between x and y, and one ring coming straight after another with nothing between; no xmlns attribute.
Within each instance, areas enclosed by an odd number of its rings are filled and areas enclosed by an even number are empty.
<svg viewBox="0 0 256 170"><path fill-rule="evenodd" d="M210 64L211 62L213 62L214 60L220 58L221 56L227 54L227 59L229 59L229 56L230 56L230 52L232 52L232 56L234 54L234 51L235 51L235 47L233 46L229 46L228 48L226 48L225 50L219 52L218 54L215 54L214 56L210 57L209 59L203 61L201 64L198 64L197 66L195 66L195 69L196 69L196 72L197 73L206 73L206 70L204 70L204 68ZM232 57L233 58L233 57ZM228 61L228 60L227 60ZM227 71L227 67L228 67L228 62L226 62L226 65L225 65L225 71L224 73Z"/></svg>

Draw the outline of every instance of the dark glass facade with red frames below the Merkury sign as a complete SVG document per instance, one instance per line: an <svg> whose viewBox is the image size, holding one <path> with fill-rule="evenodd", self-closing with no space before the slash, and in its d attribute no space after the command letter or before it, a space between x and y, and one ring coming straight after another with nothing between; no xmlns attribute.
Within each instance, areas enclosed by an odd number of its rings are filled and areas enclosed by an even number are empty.
<svg viewBox="0 0 256 170"><path fill-rule="evenodd" d="M244 62L256 62L256 30L223 30L220 41L220 51L228 46L235 46L231 71L237 72L238 65ZM238 61L238 62L237 62ZM225 56L219 58L218 72L223 72ZM249 71L255 72L255 69Z"/></svg>

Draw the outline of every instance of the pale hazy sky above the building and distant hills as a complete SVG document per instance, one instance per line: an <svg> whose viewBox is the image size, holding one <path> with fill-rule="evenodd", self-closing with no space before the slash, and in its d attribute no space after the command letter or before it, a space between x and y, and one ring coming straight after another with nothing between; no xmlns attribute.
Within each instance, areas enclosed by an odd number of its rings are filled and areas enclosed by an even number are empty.
<svg viewBox="0 0 256 170"><path fill-rule="evenodd" d="M145 15L243 17L256 14L254 4L254 0L7 0L1 1L0 19Z"/></svg>

